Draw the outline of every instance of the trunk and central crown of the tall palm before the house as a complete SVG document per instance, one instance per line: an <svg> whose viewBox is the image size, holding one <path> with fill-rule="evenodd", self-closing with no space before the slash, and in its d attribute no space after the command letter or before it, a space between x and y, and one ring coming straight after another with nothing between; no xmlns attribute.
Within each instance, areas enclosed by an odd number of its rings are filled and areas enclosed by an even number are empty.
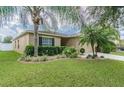
<svg viewBox="0 0 124 93"><path fill-rule="evenodd" d="M39 6L26 6L25 9L30 13L34 24L34 56L38 56L38 28L40 24L43 24L43 18L40 13L41 11L44 12L44 8Z"/></svg>

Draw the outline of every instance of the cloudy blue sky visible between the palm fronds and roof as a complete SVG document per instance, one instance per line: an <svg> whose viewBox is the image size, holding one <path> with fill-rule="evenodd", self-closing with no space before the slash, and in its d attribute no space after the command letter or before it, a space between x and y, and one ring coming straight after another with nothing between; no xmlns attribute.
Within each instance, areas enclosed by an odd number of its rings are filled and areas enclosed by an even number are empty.
<svg viewBox="0 0 124 93"><path fill-rule="evenodd" d="M84 7L85 8L85 7ZM50 22L50 19L47 18ZM8 24L4 25L3 28L0 28L0 41L5 36L12 36L13 38L18 36L20 33L22 33L25 30L33 30L33 24L31 21L31 17L28 17L29 24L27 25L27 29L24 29L23 24L19 21L19 16L17 14L14 15L14 20L11 22L8 22ZM45 30L46 26L42 25L40 26L40 30ZM67 35L74 35L80 32L79 28L72 25L61 25L59 26L58 30L60 33L67 34ZM120 38L124 39L124 27L119 28L120 32Z"/></svg>

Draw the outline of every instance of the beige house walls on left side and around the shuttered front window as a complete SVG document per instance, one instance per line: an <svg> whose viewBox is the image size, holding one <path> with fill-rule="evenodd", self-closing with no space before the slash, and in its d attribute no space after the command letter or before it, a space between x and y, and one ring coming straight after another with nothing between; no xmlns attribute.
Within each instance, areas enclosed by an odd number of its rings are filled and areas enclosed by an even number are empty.
<svg viewBox="0 0 124 93"><path fill-rule="evenodd" d="M39 35L39 37L48 37L48 38L54 38L54 46L61 46L61 38L60 37L54 37L54 36L45 36L45 35ZM38 38L39 39L39 38ZM19 48L18 48L18 40L19 40ZM15 46L16 41L16 46ZM25 47L27 45L34 45L34 35L32 33L28 33L26 35L23 35L19 37L16 40L13 40L13 48L15 51L19 53L23 53L25 50Z"/></svg>

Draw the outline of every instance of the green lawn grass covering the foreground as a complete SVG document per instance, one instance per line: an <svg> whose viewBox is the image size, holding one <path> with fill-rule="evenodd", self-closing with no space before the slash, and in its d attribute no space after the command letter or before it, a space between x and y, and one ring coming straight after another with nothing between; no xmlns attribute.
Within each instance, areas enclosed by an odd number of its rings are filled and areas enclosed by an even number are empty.
<svg viewBox="0 0 124 93"><path fill-rule="evenodd" d="M124 62L63 59L22 64L15 52L0 52L0 86L124 86Z"/></svg>

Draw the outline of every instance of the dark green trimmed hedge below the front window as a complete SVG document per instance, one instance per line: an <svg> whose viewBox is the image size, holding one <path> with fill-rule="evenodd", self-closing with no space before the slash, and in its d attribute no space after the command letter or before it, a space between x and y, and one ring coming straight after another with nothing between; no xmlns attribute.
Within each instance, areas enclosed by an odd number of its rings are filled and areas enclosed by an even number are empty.
<svg viewBox="0 0 124 93"><path fill-rule="evenodd" d="M57 54L62 54L65 46L39 46L38 47L38 55L48 55L53 56ZM28 45L25 48L26 56L33 56L34 55L34 46Z"/></svg>

